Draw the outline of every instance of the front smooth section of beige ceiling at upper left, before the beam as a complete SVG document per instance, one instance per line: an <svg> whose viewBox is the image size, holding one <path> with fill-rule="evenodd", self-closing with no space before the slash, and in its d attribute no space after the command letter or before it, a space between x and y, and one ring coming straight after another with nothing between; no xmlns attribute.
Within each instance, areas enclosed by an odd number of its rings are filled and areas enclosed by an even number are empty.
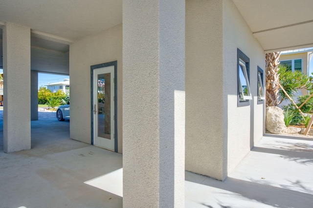
<svg viewBox="0 0 313 208"><path fill-rule="evenodd" d="M0 0L0 21L75 42L122 23L122 0Z"/></svg>

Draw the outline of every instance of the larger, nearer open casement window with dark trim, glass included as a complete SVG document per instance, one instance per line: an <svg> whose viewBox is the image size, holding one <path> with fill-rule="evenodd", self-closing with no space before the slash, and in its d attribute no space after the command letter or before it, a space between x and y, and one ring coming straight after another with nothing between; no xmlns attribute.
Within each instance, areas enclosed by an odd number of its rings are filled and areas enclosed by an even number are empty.
<svg viewBox="0 0 313 208"><path fill-rule="evenodd" d="M249 105L252 100L250 90L249 58L237 49L237 82L238 82L238 107Z"/></svg>

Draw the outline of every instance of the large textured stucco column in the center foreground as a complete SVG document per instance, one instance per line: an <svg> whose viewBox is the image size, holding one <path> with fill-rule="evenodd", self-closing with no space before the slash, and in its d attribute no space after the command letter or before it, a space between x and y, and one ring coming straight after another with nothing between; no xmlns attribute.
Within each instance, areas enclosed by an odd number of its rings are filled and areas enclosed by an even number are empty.
<svg viewBox="0 0 313 208"><path fill-rule="evenodd" d="M184 0L123 0L123 207L184 207L184 48Z"/></svg>

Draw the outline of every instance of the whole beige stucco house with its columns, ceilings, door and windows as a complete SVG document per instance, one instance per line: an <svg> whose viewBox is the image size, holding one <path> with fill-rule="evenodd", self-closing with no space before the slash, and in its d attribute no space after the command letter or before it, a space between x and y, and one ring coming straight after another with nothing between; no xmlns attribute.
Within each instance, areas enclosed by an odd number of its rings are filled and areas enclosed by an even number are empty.
<svg viewBox="0 0 313 208"><path fill-rule="evenodd" d="M312 47L312 10L311 0L1 2L4 151L31 147L38 72L69 74L70 138L123 153L123 206L184 207L185 169L224 180L262 138L265 54Z"/></svg>

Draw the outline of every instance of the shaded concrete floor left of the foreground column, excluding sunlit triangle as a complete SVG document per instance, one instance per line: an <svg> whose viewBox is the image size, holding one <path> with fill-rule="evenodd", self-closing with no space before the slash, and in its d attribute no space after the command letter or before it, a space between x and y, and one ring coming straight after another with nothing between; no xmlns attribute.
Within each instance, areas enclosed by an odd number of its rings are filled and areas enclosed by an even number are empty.
<svg viewBox="0 0 313 208"><path fill-rule="evenodd" d="M70 140L69 121L32 121L32 149L10 154L1 131L1 208L122 207L121 197L84 184L121 168L122 155Z"/></svg>

